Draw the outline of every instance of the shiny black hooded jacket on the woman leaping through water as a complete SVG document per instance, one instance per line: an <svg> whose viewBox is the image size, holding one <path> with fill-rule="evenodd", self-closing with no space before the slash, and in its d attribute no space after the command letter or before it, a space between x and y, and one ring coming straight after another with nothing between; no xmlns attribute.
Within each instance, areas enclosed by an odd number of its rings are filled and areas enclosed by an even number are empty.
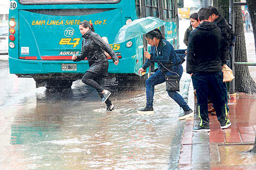
<svg viewBox="0 0 256 170"><path fill-rule="evenodd" d="M89 70L87 70L88 72L107 75L108 60L104 51L111 56L114 62L118 60L117 55L113 49L98 34L92 32L92 30L88 30L82 37L81 53L74 61L81 61L87 57L90 66Z"/></svg>

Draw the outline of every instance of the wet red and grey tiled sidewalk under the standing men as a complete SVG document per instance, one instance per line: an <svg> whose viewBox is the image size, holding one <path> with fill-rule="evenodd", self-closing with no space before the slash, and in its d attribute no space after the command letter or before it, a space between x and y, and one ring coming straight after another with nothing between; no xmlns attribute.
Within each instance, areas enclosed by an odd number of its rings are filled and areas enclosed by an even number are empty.
<svg viewBox="0 0 256 170"><path fill-rule="evenodd" d="M222 130L217 117L209 115L210 133L194 133L197 110L194 119L186 119L179 169L256 169L256 154L247 152L255 140L256 96L240 94L229 104L228 129Z"/></svg>

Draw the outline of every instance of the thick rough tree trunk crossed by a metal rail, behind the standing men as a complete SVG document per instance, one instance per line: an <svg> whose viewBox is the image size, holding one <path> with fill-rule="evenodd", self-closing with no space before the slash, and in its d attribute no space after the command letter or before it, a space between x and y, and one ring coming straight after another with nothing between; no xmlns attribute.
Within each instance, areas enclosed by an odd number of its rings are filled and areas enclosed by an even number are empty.
<svg viewBox="0 0 256 170"><path fill-rule="evenodd" d="M240 0L235 0L235 2L240 2ZM247 62L245 33L240 6L235 6L235 34L235 61ZM249 73L248 66L235 65L235 91L249 94L256 93L256 83Z"/></svg>

